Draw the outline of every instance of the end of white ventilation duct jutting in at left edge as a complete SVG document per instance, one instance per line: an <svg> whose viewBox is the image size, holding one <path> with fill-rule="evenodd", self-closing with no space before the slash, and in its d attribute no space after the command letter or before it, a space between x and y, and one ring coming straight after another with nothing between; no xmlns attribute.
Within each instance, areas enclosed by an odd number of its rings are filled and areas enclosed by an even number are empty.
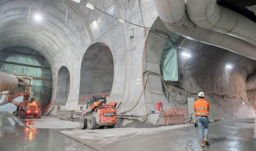
<svg viewBox="0 0 256 151"><path fill-rule="evenodd" d="M0 92L15 89L19 82L16 76L0 71Z"/></svg>

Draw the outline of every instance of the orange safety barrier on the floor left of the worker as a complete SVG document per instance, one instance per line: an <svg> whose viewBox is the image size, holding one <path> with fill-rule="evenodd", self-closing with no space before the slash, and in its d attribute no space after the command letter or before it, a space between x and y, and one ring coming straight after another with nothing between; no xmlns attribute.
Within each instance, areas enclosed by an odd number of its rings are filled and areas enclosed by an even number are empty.
<svg viewBox="0 0 256 151"><path fill-rule="evenodd" d="M189 122L189 110L180 108L168 108L164 110L164 125L178 125Z"/></svg>

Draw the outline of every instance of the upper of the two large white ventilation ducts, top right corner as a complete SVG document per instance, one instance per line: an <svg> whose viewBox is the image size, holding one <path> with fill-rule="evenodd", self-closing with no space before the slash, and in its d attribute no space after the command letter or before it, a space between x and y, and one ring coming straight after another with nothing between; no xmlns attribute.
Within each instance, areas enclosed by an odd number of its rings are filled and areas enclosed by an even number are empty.
<svg viewBox="0 0 256 151"><path fill-rule="evenodd" d="M228 34L256 46L256 23L219 6L216 0L186 0L186 11L198 27Z"/></svg>

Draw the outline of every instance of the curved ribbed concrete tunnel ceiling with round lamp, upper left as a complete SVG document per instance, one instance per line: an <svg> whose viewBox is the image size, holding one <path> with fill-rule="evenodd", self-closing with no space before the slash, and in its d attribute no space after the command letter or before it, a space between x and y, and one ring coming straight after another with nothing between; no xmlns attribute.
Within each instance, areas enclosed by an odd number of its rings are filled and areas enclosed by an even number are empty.
<svg viewBox="0 0 256 151"><path fill-rule="evenodd" d="M51 61L99 15L93 13L72 0L1 0L0 50L28 46ZM35 19L37 14L41 15L41 21Z"/></svg>

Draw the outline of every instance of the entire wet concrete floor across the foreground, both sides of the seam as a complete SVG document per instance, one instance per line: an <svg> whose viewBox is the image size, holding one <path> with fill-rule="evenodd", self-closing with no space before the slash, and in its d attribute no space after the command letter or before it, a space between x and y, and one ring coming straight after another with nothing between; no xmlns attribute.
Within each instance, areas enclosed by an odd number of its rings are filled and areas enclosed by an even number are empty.
<svg viewBox="0 0 256 151"><path fill-rule="evenodd" d="M251 121L209 124L210 145L205 148L192 125L80 130L36 128L36 122L0 112L0 151L256 151Z"/></svg>

